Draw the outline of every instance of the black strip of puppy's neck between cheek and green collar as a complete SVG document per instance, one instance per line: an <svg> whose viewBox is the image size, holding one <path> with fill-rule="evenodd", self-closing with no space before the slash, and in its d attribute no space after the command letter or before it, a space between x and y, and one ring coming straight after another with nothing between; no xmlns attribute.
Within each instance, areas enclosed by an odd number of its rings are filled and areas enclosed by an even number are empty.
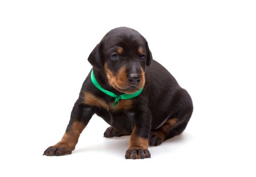
<svg viewBox="0 0 256 177"><path fill-rule="evenodd" d="M113 92L116 95L121 95L124 93L121 93L119 91L117 91L116 89L114 89L107 81L107 77L106 77L106 73L104 70L98 70L93 68L93 72L95 75L96 80L99 82L100 86L110 92Z"/></svg>

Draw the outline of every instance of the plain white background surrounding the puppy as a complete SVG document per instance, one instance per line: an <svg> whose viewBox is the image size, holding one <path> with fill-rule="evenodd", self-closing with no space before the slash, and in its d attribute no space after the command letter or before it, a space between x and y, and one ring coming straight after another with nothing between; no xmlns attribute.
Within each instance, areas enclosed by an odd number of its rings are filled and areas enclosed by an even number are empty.
<svg viewBox="0 0 256 177"><path fill-rule="evenodd" d="M0 175L255 176L255 3L88 2L1 1ZM103 138L95 115L72 155L42 156L65 131L87 57L119 26L147 38L190 93L187 129L151 159L125 160L129 137Z"/></svg>

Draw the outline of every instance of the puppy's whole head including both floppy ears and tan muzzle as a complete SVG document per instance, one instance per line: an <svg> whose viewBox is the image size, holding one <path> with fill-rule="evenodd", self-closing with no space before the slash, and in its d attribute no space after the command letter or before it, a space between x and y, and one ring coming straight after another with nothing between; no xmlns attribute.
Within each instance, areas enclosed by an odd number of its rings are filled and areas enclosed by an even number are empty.
<svg viewBox="0 0 256 177"><path fill-rule="evenodd" d="M95 69L105 72L109 85L126 94L142 89L151 60L147 40L127 27L109 31L88 58Z"/></svg>

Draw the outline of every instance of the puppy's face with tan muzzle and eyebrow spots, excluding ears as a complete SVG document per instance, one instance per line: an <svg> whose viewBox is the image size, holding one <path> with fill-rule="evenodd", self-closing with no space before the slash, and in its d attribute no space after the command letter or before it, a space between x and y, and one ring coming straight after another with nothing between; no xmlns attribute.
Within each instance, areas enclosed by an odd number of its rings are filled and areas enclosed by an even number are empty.
<svg viewBox="0 0 256 177"><path fill-rule="evenodd" d="M145 83L147 49L139 40L117 36L116 42L107 42L103 49L107 80L119 92L132 94Z"/></svg>

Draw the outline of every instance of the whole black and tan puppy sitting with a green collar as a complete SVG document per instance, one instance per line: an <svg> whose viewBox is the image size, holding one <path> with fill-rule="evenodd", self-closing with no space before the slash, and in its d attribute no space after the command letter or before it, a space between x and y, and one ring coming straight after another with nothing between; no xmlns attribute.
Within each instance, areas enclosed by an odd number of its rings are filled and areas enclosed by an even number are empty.
<svg viewBox="0 0 256 177"><path fill-rule="evenodd" d="M95 113L111 125L104 137L131 135L125 158L149 158L149 146L184 131L193 112L191 97L152 59L148 42L137 31L109 31L88 61L93 70L82 85L66 132L44 155L71 154Z"/></svg>

